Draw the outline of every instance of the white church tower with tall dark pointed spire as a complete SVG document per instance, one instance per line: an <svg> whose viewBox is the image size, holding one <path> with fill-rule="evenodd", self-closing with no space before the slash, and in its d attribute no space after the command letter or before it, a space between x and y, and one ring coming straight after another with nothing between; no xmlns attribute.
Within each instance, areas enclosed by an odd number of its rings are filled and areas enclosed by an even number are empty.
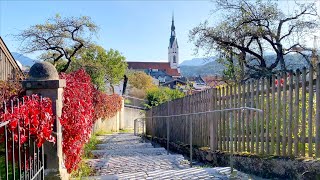
<svg viewBox="0 0 320 180"><path fill-rule="evenodd" d="M172 24L171 24L171 36L169 40L168 47L168 61L170 63L171 69L179 68L179 46L176 38L176 31L174 26L174 17L172 15Z"/></svg>

